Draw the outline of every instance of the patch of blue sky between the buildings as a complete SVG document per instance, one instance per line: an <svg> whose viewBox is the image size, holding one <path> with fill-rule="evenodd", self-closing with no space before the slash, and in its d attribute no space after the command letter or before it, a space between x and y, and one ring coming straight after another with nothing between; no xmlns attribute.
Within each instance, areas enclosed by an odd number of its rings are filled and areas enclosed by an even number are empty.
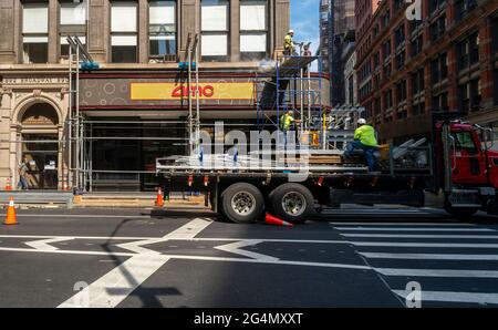
<svg viewBox="0 0 498 330"><path fill-rule="evenodd" d="M314 51L320 42L319 2L320 0L291 0L291 28L295 41L311 41Z"/></svg>

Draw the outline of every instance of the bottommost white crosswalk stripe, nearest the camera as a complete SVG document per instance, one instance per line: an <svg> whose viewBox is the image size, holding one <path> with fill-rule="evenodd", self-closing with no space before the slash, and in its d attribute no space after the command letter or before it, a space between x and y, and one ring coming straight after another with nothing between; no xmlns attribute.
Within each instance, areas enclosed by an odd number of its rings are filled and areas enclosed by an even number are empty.
<svg viewBox="0 0 498 330"><path fill-rule="evenodd" d="M404 299L406 299L411 293L405 290L393 290L393 292ZM498 293L449 291L422 291L421 293L422 301L498 303Z"/></svg>

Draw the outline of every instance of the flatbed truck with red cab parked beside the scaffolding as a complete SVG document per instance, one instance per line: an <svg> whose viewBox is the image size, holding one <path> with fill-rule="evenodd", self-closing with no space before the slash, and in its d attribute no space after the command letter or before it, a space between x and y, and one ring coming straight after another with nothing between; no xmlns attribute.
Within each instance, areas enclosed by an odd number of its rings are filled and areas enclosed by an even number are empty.
<svg viewBox="0 0 498 330"><path fill-rule="evenodd" d="M270 213L301 224L341 204L430 204L456 217L496 214L498 152L490 131L460 121L461 115L433 113L429 143L412 151L424 166L403 159L396 167L400 159L391 149L380 172L357 163L310 166L299 182L290 182L292 168L203 168L177 165L172 157L158 158L156 171L166 194L200 192L214 212L235 223L257 223Z"/></svg>

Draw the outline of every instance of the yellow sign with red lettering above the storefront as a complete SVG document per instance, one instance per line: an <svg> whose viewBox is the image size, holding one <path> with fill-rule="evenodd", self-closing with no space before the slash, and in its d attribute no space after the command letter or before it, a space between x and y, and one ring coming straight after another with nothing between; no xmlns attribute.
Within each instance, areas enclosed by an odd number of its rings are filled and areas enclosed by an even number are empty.
<svg viewBox="0 0 498 330"><path fill-rule="evenodd" d="M162 101L196 97L196 86L177 83L131 83L133 101ZM255 84L251 82L201 83L200 100L253 100Z"/></svg>

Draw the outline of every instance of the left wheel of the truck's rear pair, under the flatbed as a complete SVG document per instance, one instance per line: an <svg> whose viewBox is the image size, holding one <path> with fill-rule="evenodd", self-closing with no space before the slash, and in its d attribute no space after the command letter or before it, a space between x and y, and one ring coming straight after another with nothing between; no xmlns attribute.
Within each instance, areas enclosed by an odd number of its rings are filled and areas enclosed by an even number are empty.
<svg viewBox="0 0 498 330"><path fill-rule="evenodd" d="M237 183L221 194L221 214L238 224L253 224L264 213L261 192L248 183Z"/></svg>

